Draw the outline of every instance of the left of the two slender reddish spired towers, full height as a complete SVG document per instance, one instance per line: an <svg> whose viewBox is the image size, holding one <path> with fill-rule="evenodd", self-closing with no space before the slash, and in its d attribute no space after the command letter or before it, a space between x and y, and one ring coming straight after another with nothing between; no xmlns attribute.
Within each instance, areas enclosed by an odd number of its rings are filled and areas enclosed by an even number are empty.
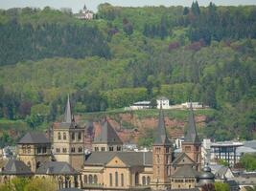
<svg viewBox="0 0 256 191"><path fill-rule="evenodd" d="M152 190L166 190L170 188L172 156L173 145L166 134L164 114L161 107L156 137L152 145Z"/></svg>

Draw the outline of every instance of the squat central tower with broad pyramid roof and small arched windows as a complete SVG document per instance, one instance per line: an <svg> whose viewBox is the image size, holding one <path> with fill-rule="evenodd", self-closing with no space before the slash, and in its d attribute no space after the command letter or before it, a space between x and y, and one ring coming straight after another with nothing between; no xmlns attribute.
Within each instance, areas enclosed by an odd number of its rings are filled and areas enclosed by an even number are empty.
<svg viewBox="0 0 256 191"><path fill-rule="evenodd" d="M95 152L116 152L123 150L122 140L118 137L106 118L102 122L100 134L92 142L92 149Z"/></svg>

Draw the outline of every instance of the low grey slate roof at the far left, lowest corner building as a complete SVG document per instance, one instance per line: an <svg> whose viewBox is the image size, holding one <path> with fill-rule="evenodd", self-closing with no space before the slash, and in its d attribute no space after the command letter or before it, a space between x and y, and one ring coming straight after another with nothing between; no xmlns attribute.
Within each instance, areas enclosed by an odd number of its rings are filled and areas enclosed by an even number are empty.
<svg viewBox="0 0 256 191"><path fill-rule="evenodd" d="M10 159L5 165L3 175L32 175L31 169L21 160Z"/></svg>

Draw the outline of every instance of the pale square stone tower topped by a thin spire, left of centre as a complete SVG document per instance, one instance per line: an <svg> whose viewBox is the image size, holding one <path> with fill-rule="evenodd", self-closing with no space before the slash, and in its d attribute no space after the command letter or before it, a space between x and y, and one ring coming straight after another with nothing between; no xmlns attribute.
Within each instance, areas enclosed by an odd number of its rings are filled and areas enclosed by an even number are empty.
<svg viewBox="0 0 256 191"><path fill-rule="evenodd" d="M65 161L81 170L84 161L84 128L72 115L69 96L63 121L53 126L53 153L57 161Z"/></svg>

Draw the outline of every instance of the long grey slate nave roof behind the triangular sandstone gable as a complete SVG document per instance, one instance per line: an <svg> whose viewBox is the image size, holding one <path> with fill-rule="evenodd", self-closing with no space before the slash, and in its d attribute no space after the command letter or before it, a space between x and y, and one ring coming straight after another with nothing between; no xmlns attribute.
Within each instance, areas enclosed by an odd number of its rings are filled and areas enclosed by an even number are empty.
<svg viewBox="0 0 256 191"><path fill-rule="evenodd" d="M105 165L114 157L118 157L128 166L151 166L151 152L92 152L85 159L85 165Z"/></svg>

